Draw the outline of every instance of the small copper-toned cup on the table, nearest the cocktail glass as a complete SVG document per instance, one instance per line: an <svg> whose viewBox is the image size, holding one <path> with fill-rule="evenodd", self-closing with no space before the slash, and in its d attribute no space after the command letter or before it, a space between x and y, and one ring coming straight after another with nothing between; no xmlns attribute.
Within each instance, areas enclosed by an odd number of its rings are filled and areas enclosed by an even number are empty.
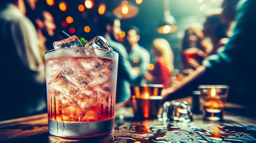
<svg viewBox="0 0 256 143"><path fill-rule="evenodd" d="M157 118L159 110L162 107L163 85L150 84L131 86L132 109L135 119L153 119Z"/></svg>

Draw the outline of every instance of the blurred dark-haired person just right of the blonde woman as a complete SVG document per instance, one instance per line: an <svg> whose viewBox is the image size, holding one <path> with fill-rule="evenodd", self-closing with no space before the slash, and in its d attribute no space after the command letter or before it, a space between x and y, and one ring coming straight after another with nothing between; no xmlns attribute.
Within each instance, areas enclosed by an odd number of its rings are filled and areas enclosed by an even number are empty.
<svg viewBox="0 0 256 143"><path fill-rule="evenodd" d="M187 62L187 56L190 56L190 58L194 58L201 64L202 60L207 56L209 48L209 44L204 39L204 35L202 33L202 26L200 26L199 24L191 24L188 28L186 28L180 46L180 69L184 70L184 72L186 69L195 69ZM189 52L189 50L191 52ZM186 55L186 53L188 52L191 54Z"/></svg>

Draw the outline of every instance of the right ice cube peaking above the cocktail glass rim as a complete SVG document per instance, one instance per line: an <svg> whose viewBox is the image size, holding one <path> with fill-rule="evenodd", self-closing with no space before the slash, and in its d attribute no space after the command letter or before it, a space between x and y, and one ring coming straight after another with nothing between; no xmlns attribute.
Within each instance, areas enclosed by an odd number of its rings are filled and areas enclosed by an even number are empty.
<svg viewBox="0 0 256 143"><path fill-rule="evenodd" d="M102 36L96 36L85 44L85 47L113 50L107 40Z"/></svg>

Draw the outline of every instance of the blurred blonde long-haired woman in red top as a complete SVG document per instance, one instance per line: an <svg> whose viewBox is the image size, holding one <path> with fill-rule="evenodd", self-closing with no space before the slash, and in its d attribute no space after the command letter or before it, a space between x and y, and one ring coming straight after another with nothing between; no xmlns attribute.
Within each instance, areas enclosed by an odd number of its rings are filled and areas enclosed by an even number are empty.
<svg viewBox="0 0 256 143"><path fill-rule="evenodd" d="M166 39L153 40L153 54L157 56L154 69L145 74L146 80L153 84L162 84L164 88L171 86L171 74L173 72L173 51Z"/></svg>

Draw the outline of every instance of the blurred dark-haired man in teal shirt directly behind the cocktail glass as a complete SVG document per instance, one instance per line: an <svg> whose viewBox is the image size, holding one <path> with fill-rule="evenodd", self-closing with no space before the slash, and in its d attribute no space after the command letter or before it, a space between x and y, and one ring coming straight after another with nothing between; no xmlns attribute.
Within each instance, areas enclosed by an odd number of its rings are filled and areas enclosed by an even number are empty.
<svg viewBox="0 0 256 143"><path fill-rule="evenodd" d="M130 83L138 77L139 69L132 68L126 48L117 42L121 31L119 18L111 12L106 12L100 15L98 24L100 35L108 41L113 51L119 54L116 103L124 102L131 96Z"/></svg>

